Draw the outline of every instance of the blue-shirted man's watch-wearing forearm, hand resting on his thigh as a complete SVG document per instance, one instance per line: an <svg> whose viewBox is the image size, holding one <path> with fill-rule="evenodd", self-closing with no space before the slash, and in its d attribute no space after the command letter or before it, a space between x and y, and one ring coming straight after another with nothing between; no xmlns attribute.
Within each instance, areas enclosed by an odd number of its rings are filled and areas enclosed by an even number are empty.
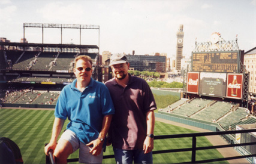
<svg viewBox="0 0 256 164"><path fill-rule="evenodd" d="M106 135L107 135L107 132L109 131L111 120L112 120L112 115L104 116L103 117L103 126L101 128L99 137L96 140L91 141L90 143L86 144L86 146L93 145L93 147L90 151L90 153L92 153L92 155L98 156L98 154L101 153L104 141L100 141L99 138L103 138L104 140L106 139Z"/></svg>

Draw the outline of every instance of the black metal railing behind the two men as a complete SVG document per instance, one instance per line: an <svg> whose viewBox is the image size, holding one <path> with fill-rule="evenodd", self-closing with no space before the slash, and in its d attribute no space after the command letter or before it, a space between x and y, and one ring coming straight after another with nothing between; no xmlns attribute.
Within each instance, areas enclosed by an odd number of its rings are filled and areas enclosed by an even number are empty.
<svg viewBox="0 0 256 164"><path fill-rule="evenodd" d="M239 131L221 131L221 132L200 132L200 133L191 133L191 134L173 134L173 135L156 135L154 140L170 139L170 138L188 138L192 137L192 147L191 148L178 148L170 150L155 150L153 154L161 153L174 153L174 152L183 152L183 151L192 151L191 162L182 162L182 163L209 163L223 160L233 160L233 159L243 159L247 157L256 157L256 154L242 155L242 156L233 156L233 157L224 157L219 159L210 159L210 160L195 160L195 154L198 150L209 150L215 148L227 148L227 147L239 147L239 146L251 146L256 145L256 142L252 143L242 143L242 144L225 144L219 146L207 146L207 147L197 147L197 137L206 137L210 135L228 135L228 134L242 134L248 132L256 132L256 129L246 129ZM103 159L109 159L115 157L114 155L103 156ZM78 162L78 158L68 159L68 162ZM46 156L46 163L55 163L53 160L52 152L49 153L49 156Z"/></svg>

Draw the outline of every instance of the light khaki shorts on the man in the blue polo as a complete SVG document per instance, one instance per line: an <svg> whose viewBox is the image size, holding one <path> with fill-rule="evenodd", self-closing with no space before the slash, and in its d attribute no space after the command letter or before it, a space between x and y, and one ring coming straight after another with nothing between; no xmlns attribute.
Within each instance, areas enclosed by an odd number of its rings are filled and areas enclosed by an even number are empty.
<svg viewBox="0 0 256 164"><path fill-rule="evenodd" d="M80 163L102 163L103 151L101 151L101 154L98 156L92 155L91 153L89 153L91 147L86 146L86 144L80 142L79 138L77 138L76 134L73 131L64 131L59 140L69 141L73 147L73 153L74 151L79 149Z"/></svg>

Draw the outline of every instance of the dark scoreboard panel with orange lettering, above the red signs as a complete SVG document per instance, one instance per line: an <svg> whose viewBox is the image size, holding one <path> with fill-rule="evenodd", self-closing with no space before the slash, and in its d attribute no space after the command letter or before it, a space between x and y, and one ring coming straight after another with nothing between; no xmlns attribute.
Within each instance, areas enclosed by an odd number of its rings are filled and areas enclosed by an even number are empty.
<svg viewBox="0 0 256 164"><path fill-rule="evenodd" d="M239 72L240 51L192 52L192 71Z"/></svg>

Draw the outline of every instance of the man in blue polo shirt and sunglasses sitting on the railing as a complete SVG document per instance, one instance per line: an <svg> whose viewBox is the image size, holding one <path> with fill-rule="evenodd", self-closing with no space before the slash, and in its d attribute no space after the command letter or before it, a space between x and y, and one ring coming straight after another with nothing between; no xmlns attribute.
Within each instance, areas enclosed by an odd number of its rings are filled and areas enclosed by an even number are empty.
<svg viewBox="0 0 256 164"><path fill-rule="evenodd" d="M59 95L52 138L44 148L46 154L50 149L54 151L56 163L67 163L68 156L78 148L80 163L102 162L105 137L115 109L107 87L91 78L91 68L91 57L78 56L74 61L77 79ZM67 117L70 123L57 144Z"/></svg>

